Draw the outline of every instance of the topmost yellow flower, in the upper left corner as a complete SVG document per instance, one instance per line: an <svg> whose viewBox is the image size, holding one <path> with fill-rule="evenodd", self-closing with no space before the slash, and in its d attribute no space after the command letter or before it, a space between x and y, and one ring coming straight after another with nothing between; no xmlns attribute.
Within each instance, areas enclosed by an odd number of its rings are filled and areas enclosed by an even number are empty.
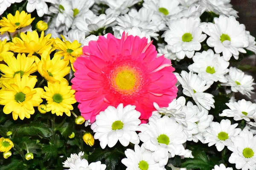
<svg viewBox="0 0 256 170"><path fill-rule="evenodd" d="M17 29L29 26L35 19L31 18L31 14L27 14L25 11L16 11L15 16L8 14L7 18L2 17L0 20L0 32L1 34L8 32L15 32Z"/></svg>

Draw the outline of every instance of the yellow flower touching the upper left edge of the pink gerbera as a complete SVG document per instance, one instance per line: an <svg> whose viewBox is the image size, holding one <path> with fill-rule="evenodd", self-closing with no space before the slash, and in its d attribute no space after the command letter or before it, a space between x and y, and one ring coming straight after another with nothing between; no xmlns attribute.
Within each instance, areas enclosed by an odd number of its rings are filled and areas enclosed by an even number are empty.
<svg viewBox="0 0 256 170"><path fill-rule="evenodd" d="M54 56L64 57L64 60L70 60L71 64L76 61L76 57L79 57L82 52L81 44L75 40L74 42L66 41L66 39L61 35L64 42L55 38L53 46L56 50L59 50L54 54Z"/></svg>

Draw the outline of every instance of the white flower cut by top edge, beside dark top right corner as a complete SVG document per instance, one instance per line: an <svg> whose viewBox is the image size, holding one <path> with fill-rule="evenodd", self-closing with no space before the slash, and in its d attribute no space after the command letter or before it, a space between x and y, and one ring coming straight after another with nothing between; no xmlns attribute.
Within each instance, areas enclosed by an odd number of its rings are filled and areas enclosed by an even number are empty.
<svg viewBox="0 0 256 170"><path fill-rule="evenodd" d="M238 17L238 11L232 8L230 0L201 0L199 4L204 8L204 11L214 12L218 15Z"/></svg>

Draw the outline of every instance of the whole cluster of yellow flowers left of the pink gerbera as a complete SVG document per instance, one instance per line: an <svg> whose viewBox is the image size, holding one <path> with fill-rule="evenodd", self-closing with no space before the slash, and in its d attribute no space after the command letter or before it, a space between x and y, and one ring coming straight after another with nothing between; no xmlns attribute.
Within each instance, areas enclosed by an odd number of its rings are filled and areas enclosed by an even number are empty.
<svg viewBox="0 0 256 170"><path fill-rule="evenodd" d="M14 120L30 118L38 106L41 113L51 111L57 116L70 116L76 102L75 91L64 77L70 73L68 65L73 68L76 57L82 54L81 44L64 37L64 41L54 39L51 34L44 36L42 27L47 26L43 21L38 22L38 31L19 32L33 20L25 11L16 11L15 16L8 14L0 20L1 34L8 32L11 39L0 41L0 105L4 105L5 114L12 113ZM12 38L10 33L15 31L18 35ZM38 79L42 81L37 84ZM47 86L41 88L45 80ZM40 105L43 99L46 102Z"/></svg>

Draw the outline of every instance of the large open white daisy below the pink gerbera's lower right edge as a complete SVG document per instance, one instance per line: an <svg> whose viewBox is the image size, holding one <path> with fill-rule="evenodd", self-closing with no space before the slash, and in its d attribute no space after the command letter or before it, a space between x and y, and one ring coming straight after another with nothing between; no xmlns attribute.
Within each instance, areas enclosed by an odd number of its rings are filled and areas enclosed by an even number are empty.
<svg viewBox="0 0 256 170"><path fill-rule="evenodd" d="M139 130L145 149L154 152L154 161L159 161L160 167L165 166L168 159L175 155L185 155L183 143L186 142L186 134L183 132L183 126L175 119L168 116L151 116L148 124L141 124Z"/></svg>

